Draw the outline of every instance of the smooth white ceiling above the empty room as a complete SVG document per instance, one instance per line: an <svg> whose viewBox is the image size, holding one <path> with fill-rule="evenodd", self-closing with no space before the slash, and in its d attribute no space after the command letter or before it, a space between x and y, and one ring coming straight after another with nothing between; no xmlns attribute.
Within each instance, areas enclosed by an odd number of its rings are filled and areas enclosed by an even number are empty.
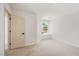
<svg viewBox="0 0 79 59"><path fill-rule="evenodd" d="M69 13L79 10L79 4L68 3L10 3L12 10L31 11L34 13Z"/></svg>

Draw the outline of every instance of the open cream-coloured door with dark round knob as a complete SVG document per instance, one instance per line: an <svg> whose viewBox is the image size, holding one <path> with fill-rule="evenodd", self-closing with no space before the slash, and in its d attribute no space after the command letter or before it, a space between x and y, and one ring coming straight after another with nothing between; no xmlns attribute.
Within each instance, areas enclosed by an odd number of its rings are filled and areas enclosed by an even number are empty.
<svg viewBox="0 0 79 59"><path fill-rule="evenodd" d="M25 46L24 18L22 16L11 17L11 49Z"/></svg>

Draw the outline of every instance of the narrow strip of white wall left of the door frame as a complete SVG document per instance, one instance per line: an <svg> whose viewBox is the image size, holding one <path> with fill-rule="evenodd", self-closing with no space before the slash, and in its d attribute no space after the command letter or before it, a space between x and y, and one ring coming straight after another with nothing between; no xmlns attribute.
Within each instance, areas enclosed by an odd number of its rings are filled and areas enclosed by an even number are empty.
<svg viewBox="0 0 79 59"><path fill-rule="evenodd" d="M0 4L0 56L4 55L4 5Z"/></svg>

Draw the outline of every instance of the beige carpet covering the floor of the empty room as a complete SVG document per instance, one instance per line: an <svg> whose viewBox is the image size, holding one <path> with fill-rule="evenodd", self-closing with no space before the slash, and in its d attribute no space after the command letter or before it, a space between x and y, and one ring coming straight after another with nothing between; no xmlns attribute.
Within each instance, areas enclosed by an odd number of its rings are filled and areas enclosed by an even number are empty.
<svg viewBox="0 0 79 59"><path fill-rule="evenodd" d="M24 48L8 50L6 56L79 56L79 48L55 40L41 40L40 43Z"/></svg>

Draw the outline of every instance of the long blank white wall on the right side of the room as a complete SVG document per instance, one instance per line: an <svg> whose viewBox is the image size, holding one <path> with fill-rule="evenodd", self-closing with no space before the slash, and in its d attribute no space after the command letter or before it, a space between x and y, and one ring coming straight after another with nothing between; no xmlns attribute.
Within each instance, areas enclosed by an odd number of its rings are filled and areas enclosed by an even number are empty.
<svg viewBox="0 0 79 59"><path fill-rule="evenodd" d="M53 38L79 48L79 11L55 19Z"/></svg>

